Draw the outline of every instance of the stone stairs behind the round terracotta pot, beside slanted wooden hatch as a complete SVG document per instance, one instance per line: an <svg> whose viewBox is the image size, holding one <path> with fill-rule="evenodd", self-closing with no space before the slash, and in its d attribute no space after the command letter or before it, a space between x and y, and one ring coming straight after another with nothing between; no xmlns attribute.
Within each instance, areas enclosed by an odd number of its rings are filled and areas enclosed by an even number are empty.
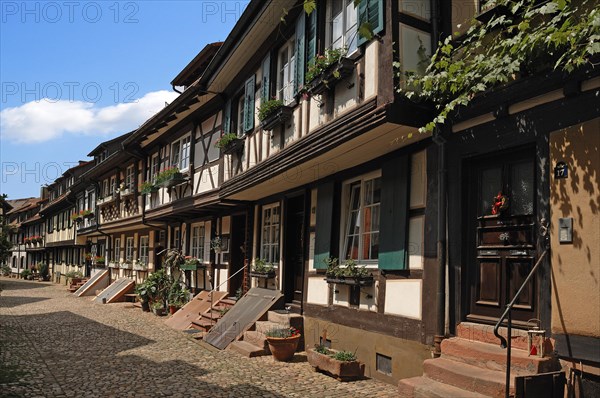
<svg viewBox="0 0 600 398"><path fill-rule="evenodd" d="M303 349L304 318L301 315L290 313L285 310L275 310L268 311L266 318L266 320L255 322L250 330L244 332L241 340L234 341L228 348L246 357L271 355L265 333L273 329L294 327L302 334L300 342L298 343L298 349Z"/></svg>

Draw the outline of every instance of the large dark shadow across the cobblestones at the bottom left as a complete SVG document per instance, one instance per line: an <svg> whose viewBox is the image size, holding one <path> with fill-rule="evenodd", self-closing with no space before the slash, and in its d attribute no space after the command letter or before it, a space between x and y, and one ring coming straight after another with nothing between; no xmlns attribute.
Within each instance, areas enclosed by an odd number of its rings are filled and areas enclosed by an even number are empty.
<svg viewBox="0 0 600 398"><path fill-rule="evenodd" d="M235 377L200 380L214 371L210 363L163 360L155 347L126 353L155 341L71 312L0 316L0 325L6 396L43 387L48 396L280 397Z"/></svg>

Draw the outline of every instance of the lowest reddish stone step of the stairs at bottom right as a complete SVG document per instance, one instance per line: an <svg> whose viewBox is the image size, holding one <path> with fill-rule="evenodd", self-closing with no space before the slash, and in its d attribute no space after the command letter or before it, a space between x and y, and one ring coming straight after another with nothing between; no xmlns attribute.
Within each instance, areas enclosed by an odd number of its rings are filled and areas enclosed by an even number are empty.
<svg viewBox="0 0 600 398"><path fill-rule="evenodd" d="M487 395L466 391L428 377L411 377L398 383L401 398L486 398Z"/></svg>

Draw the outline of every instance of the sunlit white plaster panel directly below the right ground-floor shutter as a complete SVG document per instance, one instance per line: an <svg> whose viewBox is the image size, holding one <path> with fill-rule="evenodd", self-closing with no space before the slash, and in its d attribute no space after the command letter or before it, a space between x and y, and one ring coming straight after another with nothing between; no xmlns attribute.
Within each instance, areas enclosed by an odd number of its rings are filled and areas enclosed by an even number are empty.
<svg viewBox="0 0 600 398"><path fill-rule="evenodd" d="M385 286L385 313L421 319L420 279L388 280Z"/></svg>

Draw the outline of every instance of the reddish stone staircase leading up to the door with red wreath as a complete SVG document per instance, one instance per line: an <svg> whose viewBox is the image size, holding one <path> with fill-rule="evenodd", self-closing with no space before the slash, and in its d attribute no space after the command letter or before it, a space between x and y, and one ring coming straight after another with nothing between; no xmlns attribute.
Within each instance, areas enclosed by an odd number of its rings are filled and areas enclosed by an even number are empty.
<svg viewBox="0 0 600 398"><path fill-rule="evenodd" d="M457 337L442 342L442 355L423 363L423 376L400 380L400 397L504 397L506 350L500 347L491 329L462 325ZM483 331L483 332L482 332ZM506 336L506 329L501 329ZM515 376L535 375L560 369L553 357L528 356L527 336L513 330L511 387Z"/></svg>

